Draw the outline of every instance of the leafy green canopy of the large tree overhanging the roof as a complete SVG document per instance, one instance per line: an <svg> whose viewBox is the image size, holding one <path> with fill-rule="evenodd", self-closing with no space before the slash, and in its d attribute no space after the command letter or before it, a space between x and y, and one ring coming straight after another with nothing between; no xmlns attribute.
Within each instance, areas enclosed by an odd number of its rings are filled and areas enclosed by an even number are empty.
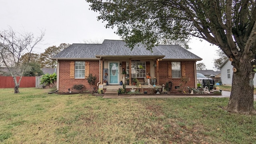
<svg viewBox="0 0 256 144"><path fill-rule="evenodd" d="M242 50L245 41L255 39L251 35L256 29L253 0L86 1L92 10L100 12L98 20L107 21L107 28L116 26L116 33L131 48L141 42L150 49L164 39L195 36L231 55L231 49L236 50L233 38ZM249 43L255 46L255 40Z"/></svg>

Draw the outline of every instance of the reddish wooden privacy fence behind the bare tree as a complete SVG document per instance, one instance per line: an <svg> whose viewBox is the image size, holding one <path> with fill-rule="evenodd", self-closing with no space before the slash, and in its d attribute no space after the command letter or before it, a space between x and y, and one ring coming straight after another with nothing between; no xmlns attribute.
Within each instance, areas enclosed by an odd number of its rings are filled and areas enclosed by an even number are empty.
<svg viewBox="0 0 256 144"><path fill-rule="evenodd" d="M20 80L20 76L17 76L17 81ZM15 84L12 76L0 76L0 88L14 88ZM20 88L35 88L36 76L22 76L20 81Z"/></svg>

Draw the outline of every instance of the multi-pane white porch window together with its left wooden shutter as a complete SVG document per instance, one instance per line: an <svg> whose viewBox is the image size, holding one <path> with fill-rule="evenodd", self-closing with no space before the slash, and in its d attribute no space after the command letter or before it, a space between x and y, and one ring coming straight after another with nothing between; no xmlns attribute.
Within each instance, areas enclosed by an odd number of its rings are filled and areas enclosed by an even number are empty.
<svg viewBox="0 0 256 144"><path fill-rule="evenodd" d="M132 78L146 77L146 62L132 62L131 76ZM129 62L126 62L126 73L129 76Z"/></svg>

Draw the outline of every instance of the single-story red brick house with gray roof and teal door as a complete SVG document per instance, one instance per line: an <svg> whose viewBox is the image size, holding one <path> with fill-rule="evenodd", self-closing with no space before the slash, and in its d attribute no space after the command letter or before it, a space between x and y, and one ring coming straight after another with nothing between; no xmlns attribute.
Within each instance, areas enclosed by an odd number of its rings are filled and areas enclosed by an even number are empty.
<svg viewBox="0 0 256 144"><path fill-rule="evenodd" d="M102 44L72 44L52 57L57 60L57 88L60 92L68 92L74 84L83 84L87 90L91 86L86 77L89 74L97 77L96 86L101 86L104 79L108 87L119 85L122 71L126 71L129 86L132 78L144 79L146 75L156 78L160 87L166 82L187 88L196 87L196 62L202 58L178 45L158 45L146 50L142 45L133 50L126 47L122 40L104 40ZM142 84L143 85L143 84ZM142 86L143 88L154 88Z"/></svg>

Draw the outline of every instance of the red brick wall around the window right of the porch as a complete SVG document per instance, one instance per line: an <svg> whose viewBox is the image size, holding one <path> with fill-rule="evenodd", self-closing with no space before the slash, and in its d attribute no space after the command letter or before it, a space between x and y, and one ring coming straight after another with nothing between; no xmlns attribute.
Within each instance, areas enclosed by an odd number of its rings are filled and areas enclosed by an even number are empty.
<svg viewBox="0 0 256 144"><path fill-rule="evenodd" d="M166 84L166 82L172 82L172 90L174 86L180 86L180 89L195 88L195 72L194 72L194 61L182 61L181 65L185 65L186 78L189 79L186 84L182 82L182 78L168 78L168 61L159 62L159 85Z"/></svg>

